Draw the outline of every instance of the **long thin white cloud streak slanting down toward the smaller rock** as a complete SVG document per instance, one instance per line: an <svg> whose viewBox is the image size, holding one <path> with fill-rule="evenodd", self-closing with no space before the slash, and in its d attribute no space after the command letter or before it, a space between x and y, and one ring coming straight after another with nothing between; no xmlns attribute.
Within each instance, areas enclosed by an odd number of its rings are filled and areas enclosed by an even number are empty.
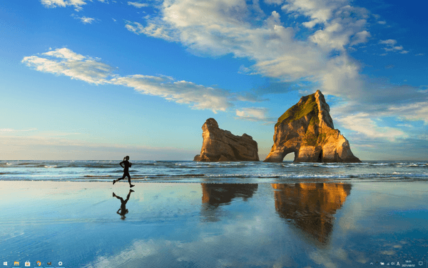
<svg viewBox="0 0 428 268"><path fill-rule="evenodd" d="M62 48L39 56L26 56L22 62L37 71L62 74L91 84L117 84L153 96L161 96L179 104L189 104L193 109L210 109L214 112L226 111L233 106L235 97L228 91L194 84L190 81L175 81L169 76L146 76L135 74L118 76L113 68L90 56L76 54Z"/></svg>

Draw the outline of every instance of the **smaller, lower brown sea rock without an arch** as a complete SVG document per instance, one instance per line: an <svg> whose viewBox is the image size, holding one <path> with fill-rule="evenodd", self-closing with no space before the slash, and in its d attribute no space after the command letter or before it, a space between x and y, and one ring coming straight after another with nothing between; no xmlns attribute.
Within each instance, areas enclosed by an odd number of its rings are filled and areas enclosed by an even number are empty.
<svg viewBox="0 0 428 268"><path fill-rule="evenodd" d="M235 136L230 131L219 129L213 118L205 121L202 130L202 149L193 161L259 161L257 142L253 137L247 134Z"/></svg>

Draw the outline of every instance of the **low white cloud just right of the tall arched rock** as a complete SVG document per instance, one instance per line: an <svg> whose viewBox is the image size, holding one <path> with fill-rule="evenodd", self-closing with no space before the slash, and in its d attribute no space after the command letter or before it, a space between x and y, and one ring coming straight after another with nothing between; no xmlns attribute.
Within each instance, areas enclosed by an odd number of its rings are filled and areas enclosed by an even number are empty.
<svg viewBox="0 0 428 268"><path fill-rule="evenodd" d="M396 139L407 138L408 135L402 130L389 126L378 126L372 120L372 115L367 113L359 113L348 116L342 116L335 119L339 121L346 129L364 134L372 139L387 139L389 142L394 142Z"/></svg>

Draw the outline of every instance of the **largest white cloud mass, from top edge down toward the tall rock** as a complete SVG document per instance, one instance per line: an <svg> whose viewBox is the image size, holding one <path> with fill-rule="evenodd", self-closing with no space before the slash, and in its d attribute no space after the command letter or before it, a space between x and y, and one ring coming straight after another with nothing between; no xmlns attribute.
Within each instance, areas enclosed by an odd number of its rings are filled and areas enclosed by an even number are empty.
<svg viewBox="0 0 428 268"><path fill-rule="evenodd" d="M321 6L320 6L321 5ZM262 24L252 23L252 6L245 1L163 1L158 16L126 28L167 41L178 41L189 51L214 56L233 54L255 62L241 73L262 74L282 81L307 80L322 85L325 94L342 94L361 86L360 64L345 46L365 43L367 10L348 1L292 1L282 10L320 21L322 29L307 41L297 41L295 30L282 25L272 11ZM341 53L330 56L333 50Z"/></svg>

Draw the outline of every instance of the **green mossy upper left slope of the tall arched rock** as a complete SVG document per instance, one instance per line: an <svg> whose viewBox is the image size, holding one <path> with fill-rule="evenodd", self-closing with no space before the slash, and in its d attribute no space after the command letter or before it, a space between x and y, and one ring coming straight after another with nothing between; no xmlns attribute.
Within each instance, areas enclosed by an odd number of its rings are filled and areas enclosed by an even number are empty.
<svg viewBox="0 0 428 268"><path fill-rule="evenodd" d="M287 124L290 121L298 120L303 116L307 116L307 114L310 114L311 112L315 112L315 114L318 114L318 105L315 99L315 94L310 94L309 96L302 97L302 103L295 104L290 109L285 111L285 113L282 114L280 118L278 118L277 124L275 124L275 126L278 126L282 122ZM312 119L311 119L311 122L312 122ZM317 123L317 122L314 122L314 123Z"/></svg>

